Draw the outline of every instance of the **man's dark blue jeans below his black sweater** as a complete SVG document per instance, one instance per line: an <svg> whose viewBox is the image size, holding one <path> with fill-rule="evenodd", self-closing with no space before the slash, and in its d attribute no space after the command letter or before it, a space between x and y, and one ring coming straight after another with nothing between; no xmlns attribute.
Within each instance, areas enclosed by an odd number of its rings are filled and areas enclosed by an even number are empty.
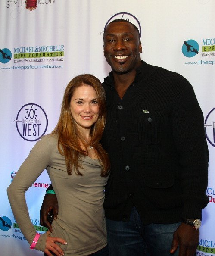
<svg viewBox="0 0 215 256"><path fill-rule="evenodd" d="M174 231L181 224L143 225L135 207L129 222L106 219L110 256L178 256L170 254Z"/></svg>

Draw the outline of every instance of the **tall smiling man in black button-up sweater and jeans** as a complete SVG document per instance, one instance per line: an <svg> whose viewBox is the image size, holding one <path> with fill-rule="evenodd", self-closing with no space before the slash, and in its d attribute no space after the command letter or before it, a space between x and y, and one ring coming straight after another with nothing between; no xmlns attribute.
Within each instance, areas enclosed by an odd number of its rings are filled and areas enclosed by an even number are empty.
<svg viewBox="0 0 215 256"><path fill-rule="evenodd" d="M109 23L101 143L112 166L104 202L110 256L193 256L208 203L203 114L189 82L141 61L141 52L136 26ZM48 227L50 197L41 209Z"/></svg>

